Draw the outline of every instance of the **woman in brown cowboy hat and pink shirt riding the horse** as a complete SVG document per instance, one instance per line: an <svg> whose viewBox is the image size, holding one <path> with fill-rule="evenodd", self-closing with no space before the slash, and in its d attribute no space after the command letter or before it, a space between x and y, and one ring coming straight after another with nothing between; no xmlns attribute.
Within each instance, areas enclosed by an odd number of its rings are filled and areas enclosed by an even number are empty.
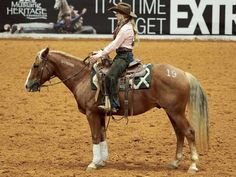
<svg viewBox="0 0 236 177"><path fill-rule="evenodd" d="M105 76L105 93L109 95L111 104L111 112L116 113L120 108L118 100L118 78L133 61L132 49L138 31L135 26L134 18L137 17L131 12L131 6L127 3L120 2L109 10L114 11L118 20L117 27L114 31L113 41L103 50L91 56L91 61L97 61L99 58L105 57L112 51L116 50L116 56L112 66ZM99 108L107 110L105 105L99 105Z"/></svg>

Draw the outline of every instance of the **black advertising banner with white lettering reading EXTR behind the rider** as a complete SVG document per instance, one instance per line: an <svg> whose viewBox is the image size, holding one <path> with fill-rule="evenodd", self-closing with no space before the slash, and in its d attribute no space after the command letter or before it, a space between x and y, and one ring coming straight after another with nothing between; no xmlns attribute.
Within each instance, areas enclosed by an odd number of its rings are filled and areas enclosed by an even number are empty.
<svg viewBox="0 0 236 177"><path fill-rule="evenodd" d="M119 2L132 6L141 35L236 35L236 0L1 0L0 31L111 34L108 8ZM75 26L58 30L68 7Z"/></svg>

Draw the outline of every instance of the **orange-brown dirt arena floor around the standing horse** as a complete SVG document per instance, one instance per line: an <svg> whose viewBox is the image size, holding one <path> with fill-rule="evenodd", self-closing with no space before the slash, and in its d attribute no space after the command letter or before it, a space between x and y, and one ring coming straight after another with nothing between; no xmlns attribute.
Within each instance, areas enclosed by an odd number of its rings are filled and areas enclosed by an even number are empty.
<svg viewBox="0 0 236 177"><path fill-rule="evenodd" d="M176 139L163 110L130 117L128 125L112 121L107 166L85 172L91 135L73 95L63 84L40 93L24 89L42 48L85 58L108 42L0 40L0 177L190 176L186 142L180 167L167 168ZM140 41L134 54L143 63L169 63L199 79L209 100L210 150L200 154L195 176L236 176L236 42Z"/></svg>

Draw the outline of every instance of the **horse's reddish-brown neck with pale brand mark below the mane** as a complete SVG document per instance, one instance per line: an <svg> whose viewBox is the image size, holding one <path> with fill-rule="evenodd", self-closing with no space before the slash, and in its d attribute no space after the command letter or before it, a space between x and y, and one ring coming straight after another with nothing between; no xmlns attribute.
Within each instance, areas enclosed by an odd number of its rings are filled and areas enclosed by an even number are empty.
<svg viewBox="0 0 236 177"><path fill-rule="evenodd" d="M80 60L73 59L72 57L68 57L61 53L52 54L50 60L54 63L55 76L57 76L61 81L68 79L64 84L72 92L74 92L75 88L79 84L83 84L81 80L83 80L84 77L89 76L89 68Z"/></svg>

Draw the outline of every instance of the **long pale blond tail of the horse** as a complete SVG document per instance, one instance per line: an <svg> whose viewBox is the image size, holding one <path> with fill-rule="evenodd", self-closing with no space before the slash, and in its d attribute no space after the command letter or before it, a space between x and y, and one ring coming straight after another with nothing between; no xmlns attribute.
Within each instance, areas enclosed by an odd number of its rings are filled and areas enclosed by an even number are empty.
<svg viewBox="0 0 236 177"><path fill-rule="evenodd" d="M190 124L195 130L196 145L200 151L207 151L209 146L208 102L199 81L186 73L190 85L189 116Z"/></svg>

